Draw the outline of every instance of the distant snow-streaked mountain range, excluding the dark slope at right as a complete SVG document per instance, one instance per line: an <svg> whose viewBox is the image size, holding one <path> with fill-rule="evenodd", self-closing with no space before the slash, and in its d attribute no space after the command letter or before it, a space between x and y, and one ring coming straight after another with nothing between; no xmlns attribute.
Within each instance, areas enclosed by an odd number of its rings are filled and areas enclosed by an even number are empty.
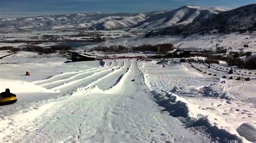
<svg viewBox="0 0 256 143"><path fill-rule="evenodd" d="M92 30L155 30L177 24L187 24L217 15L220 8L201 9L183 6L176 10L147 13L77 13L71 15L0 19L0 30L45 30L60 28L90 28Z"/></svg>

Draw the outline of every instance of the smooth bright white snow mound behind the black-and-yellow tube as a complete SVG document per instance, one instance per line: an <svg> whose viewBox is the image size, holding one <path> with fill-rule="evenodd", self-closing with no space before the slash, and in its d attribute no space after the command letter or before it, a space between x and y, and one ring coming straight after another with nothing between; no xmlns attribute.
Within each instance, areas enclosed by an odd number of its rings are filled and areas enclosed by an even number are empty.
<svg viewBox="0 0 256 143"><path fill-rule="evenodd" d="M5 91L6 88L15 94L21 92L54 92L27 81L0 79L0 83L0 92Z"/></svg>

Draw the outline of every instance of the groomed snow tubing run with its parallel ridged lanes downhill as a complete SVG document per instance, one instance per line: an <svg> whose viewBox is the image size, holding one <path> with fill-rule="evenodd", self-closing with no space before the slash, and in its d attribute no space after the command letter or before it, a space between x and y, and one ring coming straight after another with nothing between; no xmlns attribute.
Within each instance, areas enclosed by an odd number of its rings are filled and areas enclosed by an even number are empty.
<svg viewBox="0 0 256 143"><path fill-rule="evenodd" d="M134 60L64 73L34 83L62 93L72 91L72 96L55 100L35 120L24 125L17 126L13 119L15 127L10 127L14 130L2 141L210 141L185 128L169 113L161 112L163 108L152 99L152 92L145 85L143 74ZM37 110L27 113L33 112Z"/></svg>

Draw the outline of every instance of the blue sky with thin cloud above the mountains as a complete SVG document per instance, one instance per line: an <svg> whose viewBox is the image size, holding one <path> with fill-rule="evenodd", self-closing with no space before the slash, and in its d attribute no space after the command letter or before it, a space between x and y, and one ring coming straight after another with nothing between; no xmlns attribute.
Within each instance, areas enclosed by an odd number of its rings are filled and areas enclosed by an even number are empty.
<svg viewBox="0 0 256 143"><path fill-rule="evenodd" d="M255 0L0 0L0 18L30 17L86 12L149 12L183 5L202 8L238 8Z"/></svg>

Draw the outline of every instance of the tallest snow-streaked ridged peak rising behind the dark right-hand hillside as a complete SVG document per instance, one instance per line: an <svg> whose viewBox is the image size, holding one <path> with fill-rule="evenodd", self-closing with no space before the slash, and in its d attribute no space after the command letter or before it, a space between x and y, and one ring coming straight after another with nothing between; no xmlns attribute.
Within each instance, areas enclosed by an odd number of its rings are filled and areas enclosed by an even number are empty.
<svg viewBox="0 0 256 143"><path fill-rule="evenodd" d="M173 25L200 22L203 19L212 17L223 11L225 10L220 8L202 9L198 6L183 6L176 10L166 11L152 16L140 22L138 25L135 25L134 28L131 28L131 31L151 31Z"/></svg>

